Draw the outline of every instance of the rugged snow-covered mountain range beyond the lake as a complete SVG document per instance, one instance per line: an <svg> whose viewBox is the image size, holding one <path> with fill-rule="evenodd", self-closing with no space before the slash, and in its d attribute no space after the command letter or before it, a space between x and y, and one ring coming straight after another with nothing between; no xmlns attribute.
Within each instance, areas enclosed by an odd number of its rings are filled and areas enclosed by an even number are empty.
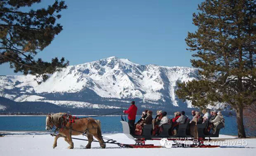
<svg viewBox="0 0 256 156"><path fill-rule="evenodd" d="M110 57L68 66L38 85L34 76L0 76L0 96L16 102L40 101L77 108L140 106L192 107L175 95L177 82L197 78L197 69L139 65ZM104 107L105 106L105 107Z"/></svg>

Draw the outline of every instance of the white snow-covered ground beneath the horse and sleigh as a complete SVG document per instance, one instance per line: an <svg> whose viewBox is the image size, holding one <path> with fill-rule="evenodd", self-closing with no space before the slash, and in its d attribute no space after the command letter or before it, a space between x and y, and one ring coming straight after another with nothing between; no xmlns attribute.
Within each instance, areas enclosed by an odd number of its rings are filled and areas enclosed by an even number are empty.
<svg viewBox="0 0 256 156"><path fill-rule="evenodd" d="M134 144L122 133L103 134L104 137L125 144ZM75 136L82 138L82 136ZM220 135L219 139L238 141L235 137ZM68 144L63 138L52 148L54 137L47 133L11 132L0 137L0 156L255 156L256 139L244 139L247 146L222 146L216 148L120 148L107 144L106 149L93 142L91 149L85 149L87 141L73 140L74 149L67 149ZM146 141L147 144L160 145L158 140Z"/></svg>

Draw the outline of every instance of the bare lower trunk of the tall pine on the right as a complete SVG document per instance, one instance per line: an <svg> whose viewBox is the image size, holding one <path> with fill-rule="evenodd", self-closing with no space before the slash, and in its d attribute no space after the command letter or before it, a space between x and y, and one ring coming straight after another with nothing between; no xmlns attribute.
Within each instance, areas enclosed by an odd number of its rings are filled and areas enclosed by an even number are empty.
<svg viewBox="0 0 256 156"><path fill-rule="evenodd" d="M243 120L243 108L239 107L237 112L237 123L238 123L238 138L246 138L244 120Z"/></svg>

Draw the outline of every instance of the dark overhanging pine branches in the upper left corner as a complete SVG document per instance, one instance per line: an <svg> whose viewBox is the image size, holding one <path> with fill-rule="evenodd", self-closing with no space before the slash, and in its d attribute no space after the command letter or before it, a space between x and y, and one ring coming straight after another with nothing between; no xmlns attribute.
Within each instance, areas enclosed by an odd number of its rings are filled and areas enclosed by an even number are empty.
<svg viewBox="0 0 256 156"><path fill-rule="evenodd" d="M58 14L67 6L57 0L47 9L22 11L41 0L1 0L0 1L0 64L9 62L14 72L24 75L36 75L38 83L48 78L60 68L68 65L64 58L54 58L51 62L35 59L62 31L60 24L55 24L61 17ZM24 9L23 9L24 10Z"/></svg>

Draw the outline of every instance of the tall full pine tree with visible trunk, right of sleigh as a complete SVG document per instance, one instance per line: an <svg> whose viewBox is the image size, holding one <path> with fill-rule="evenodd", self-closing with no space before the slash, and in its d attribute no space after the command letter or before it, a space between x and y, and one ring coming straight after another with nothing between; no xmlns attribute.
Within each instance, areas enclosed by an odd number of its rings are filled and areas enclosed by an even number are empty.
<svg viewBox="0 0 256 156"><path fill-rule="evenodd" d="M194 106L229 104L238 137L246 137L243 109L256 101L256 8L254 0L205 0L193 14L195 33L185 39L199 79L180 83L179 98Z"/></svg>

